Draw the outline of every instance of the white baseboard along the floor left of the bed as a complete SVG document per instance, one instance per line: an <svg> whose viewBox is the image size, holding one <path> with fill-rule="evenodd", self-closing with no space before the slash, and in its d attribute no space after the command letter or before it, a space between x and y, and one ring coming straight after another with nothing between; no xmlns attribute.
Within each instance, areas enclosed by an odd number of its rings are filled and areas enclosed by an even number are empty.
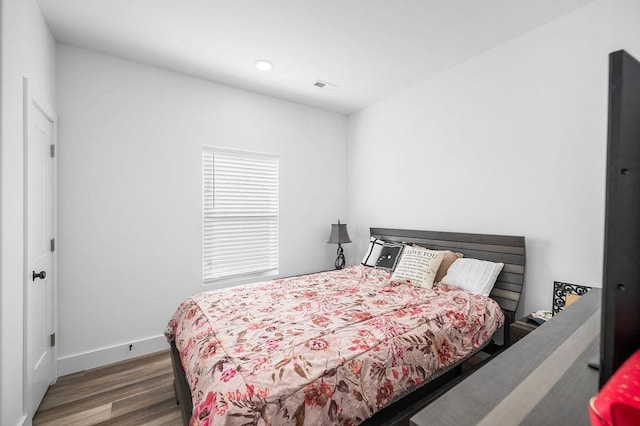
<svg viewBox="0 0 640 426"><path fill-rule="evenodd" d="M131 346L131 348L129 348ZM83 352L58 358L58 376L77 373L90 368L101 367L129 358L147 355L169 349L169 343L164 335L149 337L135 342L108 346L94 351Z"/></svg>

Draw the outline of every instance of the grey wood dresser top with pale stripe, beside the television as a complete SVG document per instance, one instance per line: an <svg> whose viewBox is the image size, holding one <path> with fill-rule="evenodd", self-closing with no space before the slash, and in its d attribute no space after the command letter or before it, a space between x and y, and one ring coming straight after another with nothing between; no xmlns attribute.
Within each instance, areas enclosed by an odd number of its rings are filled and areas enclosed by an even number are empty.
<svg viewBox="0 0 640 426"><path fill-rule="evenodd" d="M589 425L602 291L594 288L411 418L411 425Z"/></svg>

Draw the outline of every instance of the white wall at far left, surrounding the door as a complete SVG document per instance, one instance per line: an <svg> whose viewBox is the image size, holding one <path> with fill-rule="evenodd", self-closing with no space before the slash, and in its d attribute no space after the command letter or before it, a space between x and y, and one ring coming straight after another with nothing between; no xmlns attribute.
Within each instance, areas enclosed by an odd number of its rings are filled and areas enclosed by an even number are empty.
<svg viewBox="0 0 640 426"><path fill-rule="evenodd" d="M23 404L22 78L55 104L55 42L35 0L2 0L0 108L0 424L25 419Z"/></svg>

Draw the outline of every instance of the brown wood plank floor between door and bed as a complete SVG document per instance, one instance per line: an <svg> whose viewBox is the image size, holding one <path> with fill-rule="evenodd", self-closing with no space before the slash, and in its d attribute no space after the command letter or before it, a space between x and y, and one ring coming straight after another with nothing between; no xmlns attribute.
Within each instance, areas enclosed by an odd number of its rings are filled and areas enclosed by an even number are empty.
<svg viewBox="0 0 640 426"><path fill-rule="evenodd" d="M169 351L58 378L34 426L181 425Z"/></svg>

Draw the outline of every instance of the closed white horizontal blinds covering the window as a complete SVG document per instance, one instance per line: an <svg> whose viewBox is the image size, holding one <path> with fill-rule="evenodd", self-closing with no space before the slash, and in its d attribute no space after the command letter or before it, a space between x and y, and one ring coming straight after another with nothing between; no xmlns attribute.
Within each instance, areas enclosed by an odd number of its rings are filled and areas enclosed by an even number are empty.
<svg viewBox="0 0 640 426"><path fill-rule="evenodd" d="M278 272L278 157L203 148L205 281Z"/></svg>

